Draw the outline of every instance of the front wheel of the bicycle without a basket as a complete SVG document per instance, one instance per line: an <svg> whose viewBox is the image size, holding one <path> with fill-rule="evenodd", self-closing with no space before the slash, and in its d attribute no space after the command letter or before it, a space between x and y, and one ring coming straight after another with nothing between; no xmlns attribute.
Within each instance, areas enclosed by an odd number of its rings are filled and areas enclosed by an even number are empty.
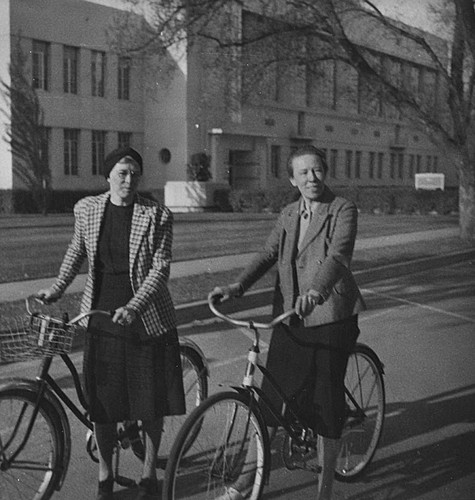
<svg viewBox="0 0 475 500"><path fill-rule="evenodd" d="M228 488L251 500L260 497L269 442L250 402L248 394L223 392L190 414L170 453L163 498L216 499Z"/></svg>

